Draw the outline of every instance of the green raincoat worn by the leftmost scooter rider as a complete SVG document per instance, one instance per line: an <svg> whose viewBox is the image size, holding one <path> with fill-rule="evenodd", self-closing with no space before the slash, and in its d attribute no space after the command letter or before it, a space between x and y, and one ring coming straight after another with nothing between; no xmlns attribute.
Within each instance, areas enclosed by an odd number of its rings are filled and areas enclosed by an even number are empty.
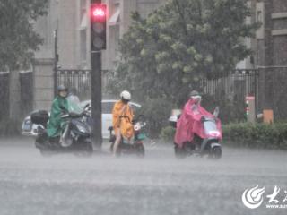
<svg viewBox="0 0 287 215"><path fill-rule="evenodd" d="M61 132L64 130L65 120L61 118L63 110L60 107L63 107L66 111L69 111L67 99L57 96L57 98L53 101L51 114L48 120L48 137L60 136Z"/></svg>

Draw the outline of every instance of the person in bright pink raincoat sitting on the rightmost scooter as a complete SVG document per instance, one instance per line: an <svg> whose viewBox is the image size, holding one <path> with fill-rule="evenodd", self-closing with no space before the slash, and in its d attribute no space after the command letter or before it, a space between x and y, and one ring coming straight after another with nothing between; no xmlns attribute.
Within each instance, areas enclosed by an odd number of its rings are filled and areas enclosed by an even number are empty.
<svg viewBox="0 0 287 215"><path fill-rule="evenodd" d="M195 134L200 138L205 138L202 117L214 117L211 113L201 107L201 96L196 90L190 93L190 99L182 110L178 119L177 131L174 141L181 148L184 142L192 142ZM220 122L219 122L220 124ZM219 125L220 126L220 125Z"/></svg>

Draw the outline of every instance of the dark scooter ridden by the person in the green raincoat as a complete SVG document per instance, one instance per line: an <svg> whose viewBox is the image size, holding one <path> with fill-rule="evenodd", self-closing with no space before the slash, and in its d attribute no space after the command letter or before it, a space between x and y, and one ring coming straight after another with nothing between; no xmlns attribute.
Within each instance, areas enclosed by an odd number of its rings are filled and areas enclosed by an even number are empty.
<svg viewBox="0 0 287 215"><path fill-rule="evenodd" d="M39 124L35 146L42 156L49 157L54 153L72 152L78 156L91 156L91 107L84 107L82 113L63 113L61 118L65 120L65 130L61 137L51 142L46 132L48 112L40 110L33 113L31 121Z"/></svg>

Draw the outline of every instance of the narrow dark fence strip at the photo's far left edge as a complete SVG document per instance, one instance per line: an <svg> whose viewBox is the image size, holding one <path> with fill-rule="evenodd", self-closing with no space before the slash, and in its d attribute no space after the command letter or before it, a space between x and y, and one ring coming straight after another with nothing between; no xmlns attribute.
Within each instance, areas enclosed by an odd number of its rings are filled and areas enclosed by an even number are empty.
<svg viewBox="0 0 287 215"><path fill-rule="evenodd" d="M9 113L9 73L0 73L0 121Z"/></svg>

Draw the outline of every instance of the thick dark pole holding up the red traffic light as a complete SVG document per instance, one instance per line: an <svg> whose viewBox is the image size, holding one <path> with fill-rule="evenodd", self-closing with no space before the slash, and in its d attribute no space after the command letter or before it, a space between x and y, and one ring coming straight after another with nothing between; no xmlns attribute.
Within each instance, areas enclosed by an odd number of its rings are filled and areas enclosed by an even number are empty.
<svg viewBox="0 0 287 215"><path fill-rule="evenodd" d="M101 3L101 0L91 0ZM96 150L101 149L101 52L91 52L91 117L93 122L92 139Z"/></svg>

